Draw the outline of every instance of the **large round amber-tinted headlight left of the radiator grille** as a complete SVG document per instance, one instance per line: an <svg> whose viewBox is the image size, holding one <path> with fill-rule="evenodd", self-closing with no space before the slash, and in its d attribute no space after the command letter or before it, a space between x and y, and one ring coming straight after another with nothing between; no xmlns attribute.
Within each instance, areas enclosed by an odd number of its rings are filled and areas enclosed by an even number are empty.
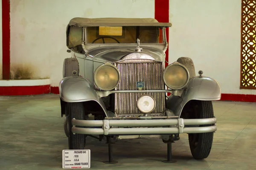
<svg viewBox="0 0 256 170"><path fill-rule="evenodd" d="M105 63L96 68L94 72L94 83L101 90L113 90L120 82L120 72L111 63Z"/></svg>

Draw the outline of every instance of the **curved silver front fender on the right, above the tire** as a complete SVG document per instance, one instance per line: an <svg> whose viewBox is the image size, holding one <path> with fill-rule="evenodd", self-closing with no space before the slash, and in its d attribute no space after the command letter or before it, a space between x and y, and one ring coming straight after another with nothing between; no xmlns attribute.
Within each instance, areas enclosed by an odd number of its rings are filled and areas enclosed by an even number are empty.
<svg viewBox="0 0 256 170"><path fill-rule="evenodd" d="M180 116L183 107L190 100L219 100L221 88L214 79L204 76L189 79L187 89L180 96L169 97L166 107L173 111L175 116Z"/></svg>

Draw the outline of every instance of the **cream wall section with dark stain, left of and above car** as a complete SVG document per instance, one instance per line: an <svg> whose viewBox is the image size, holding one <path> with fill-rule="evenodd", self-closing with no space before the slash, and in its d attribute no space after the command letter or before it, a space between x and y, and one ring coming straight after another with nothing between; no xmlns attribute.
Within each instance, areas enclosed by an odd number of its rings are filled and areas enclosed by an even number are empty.
<svg viewBox="0 0 256 170"><path fill-rule="evenodd" d="M11 0L11 76L62 78L73 17L151 17L154 0Z"/></svg>

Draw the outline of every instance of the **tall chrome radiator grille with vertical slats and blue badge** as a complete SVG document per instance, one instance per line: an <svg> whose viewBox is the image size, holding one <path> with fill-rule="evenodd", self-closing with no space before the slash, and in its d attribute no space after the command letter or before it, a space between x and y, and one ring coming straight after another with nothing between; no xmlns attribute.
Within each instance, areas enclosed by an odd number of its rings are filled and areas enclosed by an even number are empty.
<svg viewBox="0 0 256 170"><path fill-rule="evenodd" d="M127 59L117 62L116 67L121 74L121 81L116 90L139 90L136 82L144 82L141 90L164 89L162 80L163 63L151 59ZM151 95L156 101L156 108L150 114L159 116L165 110L165 93L122 93L115 94L115 113L122 116L143 115L137 108L137 99ZM158 113L158 114L156 114Z"/></svg>

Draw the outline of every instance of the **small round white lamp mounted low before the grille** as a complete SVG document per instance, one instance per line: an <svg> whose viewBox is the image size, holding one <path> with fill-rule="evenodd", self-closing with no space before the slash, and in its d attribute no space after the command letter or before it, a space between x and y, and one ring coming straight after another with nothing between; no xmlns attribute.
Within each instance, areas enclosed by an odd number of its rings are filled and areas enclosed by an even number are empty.
<svg viewBox="0 0 256 170"><path fill-rule="evenodd" d="M150 113L156 107L156 101L152 96L143 95L137 100L137 108L142 113Z"/></svg>

